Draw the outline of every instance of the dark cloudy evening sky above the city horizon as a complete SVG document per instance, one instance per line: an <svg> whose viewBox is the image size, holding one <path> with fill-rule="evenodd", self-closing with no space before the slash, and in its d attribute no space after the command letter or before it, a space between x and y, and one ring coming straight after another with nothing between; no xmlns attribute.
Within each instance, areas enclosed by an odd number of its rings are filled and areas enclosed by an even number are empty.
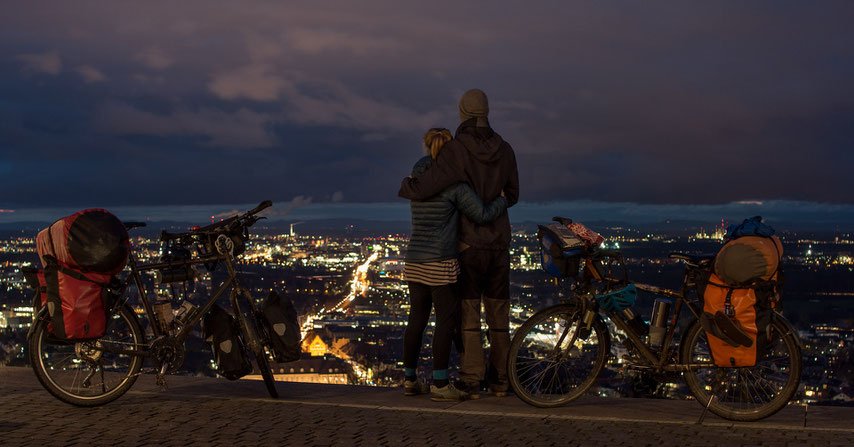
<svg viewBox="0 0 854 447"><path fill-rule="evenodd" d="M2 1L0 208L395 202L475 87L526 202L854 204L852 2L421 5Z"/></svg>

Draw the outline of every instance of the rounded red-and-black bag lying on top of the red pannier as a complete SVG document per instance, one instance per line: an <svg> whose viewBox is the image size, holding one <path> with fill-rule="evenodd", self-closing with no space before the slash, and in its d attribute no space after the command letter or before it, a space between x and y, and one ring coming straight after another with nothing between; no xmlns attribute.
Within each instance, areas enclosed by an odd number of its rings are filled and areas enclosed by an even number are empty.
<svg viewBox="0 0 854 447"><path fill-rule="evenodd" d="M52 256L77 271L113 275L127 264L130 240L116 216L103 209L87 209L40 231L36 247L45 267L45 256Z"/></svg>

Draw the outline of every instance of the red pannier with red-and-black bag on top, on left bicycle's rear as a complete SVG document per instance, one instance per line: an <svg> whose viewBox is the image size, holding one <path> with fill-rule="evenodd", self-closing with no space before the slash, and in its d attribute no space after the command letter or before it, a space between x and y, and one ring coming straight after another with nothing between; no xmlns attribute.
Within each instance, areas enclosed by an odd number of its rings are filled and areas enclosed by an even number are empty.
<svg viewBox="0 0 854 447"><path fill-rule="evenodd" d="M103 336L110 282L130 251L124 224L108 211L88 209L39 232L36 246L44 270L30 283L39 292L35 310L47 307L50 331L62 339Z"/></svg>

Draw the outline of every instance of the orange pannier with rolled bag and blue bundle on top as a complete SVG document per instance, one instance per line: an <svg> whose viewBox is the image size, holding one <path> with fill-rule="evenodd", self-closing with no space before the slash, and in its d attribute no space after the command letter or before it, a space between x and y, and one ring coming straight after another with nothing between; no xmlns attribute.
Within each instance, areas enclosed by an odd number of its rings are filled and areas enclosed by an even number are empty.
<svg viewBox="0 0 854 447"><path fill-rule="evenodd" d="M758 216L730 226L726 237L703 292L700 322L715 364L753 366L764 352L771 314L780 303L783 244Z"/></svg>

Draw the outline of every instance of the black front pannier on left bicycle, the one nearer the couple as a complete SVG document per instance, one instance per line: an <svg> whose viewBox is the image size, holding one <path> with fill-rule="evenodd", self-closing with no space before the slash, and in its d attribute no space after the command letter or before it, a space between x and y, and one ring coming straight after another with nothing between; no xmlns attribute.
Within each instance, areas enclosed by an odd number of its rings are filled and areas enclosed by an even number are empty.
<svg viewBox="0 0 854 447"><path fill-rule="evenodd" d="M270 334L276 362L299 360L302 336L297 311L291 299L276 292L270 292L264 304L261 305L261 314L264 316L264 324Z"/></svg>

